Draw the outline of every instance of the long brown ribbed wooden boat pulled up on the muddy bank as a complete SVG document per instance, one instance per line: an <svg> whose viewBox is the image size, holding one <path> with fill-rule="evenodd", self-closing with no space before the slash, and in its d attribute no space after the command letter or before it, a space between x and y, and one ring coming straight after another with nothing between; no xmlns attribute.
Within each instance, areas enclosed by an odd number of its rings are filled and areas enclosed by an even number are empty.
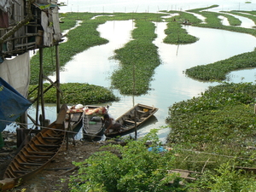
<svg viewBox="0 0 256 192"><path fill-rule="evenodd" d="M44 169L59 152L65 139L64 120L67 105L62 105L54 123L38 132L10 162L0 181L2 190L12 189L15 184L22 183L37 172Z"/></svg>

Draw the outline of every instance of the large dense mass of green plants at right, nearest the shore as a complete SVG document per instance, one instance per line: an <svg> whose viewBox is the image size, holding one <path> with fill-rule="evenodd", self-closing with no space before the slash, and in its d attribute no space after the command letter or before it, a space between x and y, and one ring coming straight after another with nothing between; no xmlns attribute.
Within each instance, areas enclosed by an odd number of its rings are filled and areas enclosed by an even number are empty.
<svg viewBox="0 0 256 192"><path fill-rule="evenodd" d="M167 119L172 127L169 141L247 145L256 136L254 106L250 105L255 102L255 88L255 84L224 83L200 97L175 103Z"/></svg>

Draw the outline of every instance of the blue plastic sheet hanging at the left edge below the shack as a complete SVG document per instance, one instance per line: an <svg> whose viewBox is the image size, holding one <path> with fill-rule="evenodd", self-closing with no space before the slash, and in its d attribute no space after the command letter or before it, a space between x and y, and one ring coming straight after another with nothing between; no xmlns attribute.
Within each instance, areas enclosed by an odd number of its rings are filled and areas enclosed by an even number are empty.
<svg viewBox="0 0 256 192"><path fill-rule="evenodd" d="M26 112L31 105L31 102L0 78L0 132Z"/></svg>

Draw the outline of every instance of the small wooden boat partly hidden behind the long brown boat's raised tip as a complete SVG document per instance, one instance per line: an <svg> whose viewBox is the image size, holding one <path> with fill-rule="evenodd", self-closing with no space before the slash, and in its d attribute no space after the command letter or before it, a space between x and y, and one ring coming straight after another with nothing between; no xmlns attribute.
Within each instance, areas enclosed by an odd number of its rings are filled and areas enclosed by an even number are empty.
<svg viewBox="0 0 256 192"><path fill-rule="evenodd" d="M72 107L67 109L66 119L65 119L65 129L68 131L73 131L76 127L82 126L84 107L76 108Z"/></svg>

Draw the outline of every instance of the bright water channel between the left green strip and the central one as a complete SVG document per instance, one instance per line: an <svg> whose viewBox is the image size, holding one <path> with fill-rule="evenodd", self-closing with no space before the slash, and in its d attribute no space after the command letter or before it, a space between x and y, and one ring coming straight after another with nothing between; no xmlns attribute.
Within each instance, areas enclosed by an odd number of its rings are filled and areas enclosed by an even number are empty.
<svg viewBox="0 0 256 192"><path fill-rule="evenodd" d="M134 29L132 20L107 21L97 30L102 38L109 40L108 44L95 46L73 56L65 66L65 71L60 73L61 83L89 83L105 87L110 86L108 80L113 70L118 67L118 62L110 60L113 50L123 47L131 40L131 30ZM55 76L49 79L54 80Z"/></svg>

